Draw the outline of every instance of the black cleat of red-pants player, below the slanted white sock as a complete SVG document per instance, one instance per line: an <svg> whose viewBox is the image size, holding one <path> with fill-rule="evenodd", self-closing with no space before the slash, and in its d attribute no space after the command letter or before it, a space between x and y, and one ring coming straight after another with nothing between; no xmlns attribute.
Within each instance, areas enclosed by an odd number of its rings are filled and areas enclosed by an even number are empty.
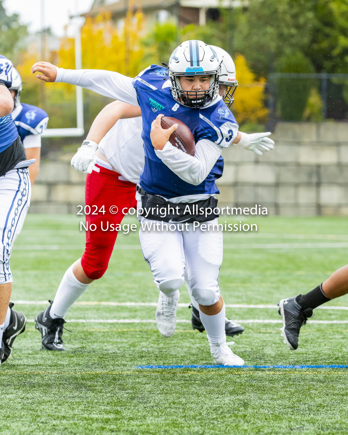
<svg viewBox="0 0 348 435"><path fill-rule="evenodd" d="M42 349L48 351L66 351L63 345L62 334L66 321L62 317L52 319L50 310L53 300L49 300L50 306L36 316L35 328L41 333Z"/></svg>

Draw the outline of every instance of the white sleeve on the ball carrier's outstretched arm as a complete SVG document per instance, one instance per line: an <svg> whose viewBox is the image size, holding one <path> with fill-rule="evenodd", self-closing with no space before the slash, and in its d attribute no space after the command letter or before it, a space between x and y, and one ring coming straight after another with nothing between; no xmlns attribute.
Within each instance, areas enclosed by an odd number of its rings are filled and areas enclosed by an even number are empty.
<svg viewBox="0 0 348 435"><path fill-rule="evenodd" d="M57 68L57 67L56 67ZM65 70L57 68L56 82L70 83L104 97L139 106L132 78L106 70Z"/></svg>

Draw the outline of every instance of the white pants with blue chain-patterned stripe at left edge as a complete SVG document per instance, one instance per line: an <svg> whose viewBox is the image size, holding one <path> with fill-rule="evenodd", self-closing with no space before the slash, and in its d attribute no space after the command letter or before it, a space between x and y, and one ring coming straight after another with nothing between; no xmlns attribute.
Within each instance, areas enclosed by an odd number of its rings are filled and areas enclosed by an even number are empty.
<svg viewBox="0 0 348 435"><path fill-rule="evenodd" d="M12 282L10 256L30 205L28 168L11 169L0 177L0 284Z"/></svg>

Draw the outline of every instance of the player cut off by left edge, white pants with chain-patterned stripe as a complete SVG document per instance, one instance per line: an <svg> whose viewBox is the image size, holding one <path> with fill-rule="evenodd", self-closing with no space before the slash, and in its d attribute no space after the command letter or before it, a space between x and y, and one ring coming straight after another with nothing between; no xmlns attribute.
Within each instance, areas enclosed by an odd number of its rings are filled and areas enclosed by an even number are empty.
<svg viewBox="0 0 348 435"><path fill-rule="evenodd" d="M0 364L12 352L15 338L25 330L26 318L12 310L10 255L30 205L31 185L23 144L11 112L12 62L0 55Z"/></svg>

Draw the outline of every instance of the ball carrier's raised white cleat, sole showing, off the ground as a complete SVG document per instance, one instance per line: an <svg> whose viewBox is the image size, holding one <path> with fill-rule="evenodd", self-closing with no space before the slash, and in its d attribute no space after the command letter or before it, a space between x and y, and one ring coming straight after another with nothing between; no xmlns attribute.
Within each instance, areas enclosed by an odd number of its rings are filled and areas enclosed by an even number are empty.
<svg viewBox="0 0 348 435"><path fill-rule="evenodd" d="M165 293L160 291L156 310L156 324L163 337L171 337L175 333L179 296L179 290L171 297L167 297Z"/></svg>

